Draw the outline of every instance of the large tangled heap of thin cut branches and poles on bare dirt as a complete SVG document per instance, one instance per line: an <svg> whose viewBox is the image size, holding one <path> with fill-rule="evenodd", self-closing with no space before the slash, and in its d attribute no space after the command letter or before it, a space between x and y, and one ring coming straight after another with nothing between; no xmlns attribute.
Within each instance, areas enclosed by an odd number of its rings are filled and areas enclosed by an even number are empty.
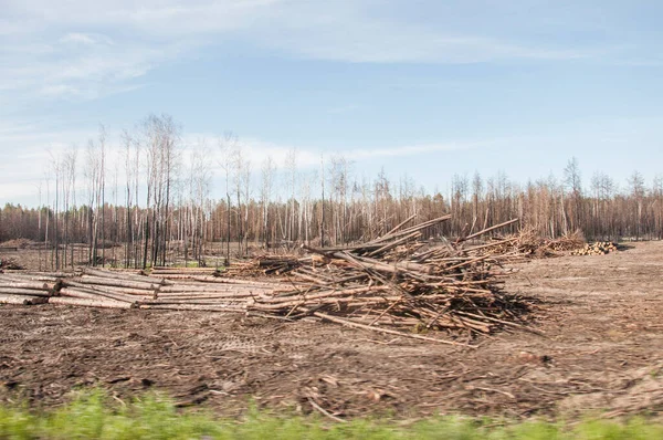
<svg viewBox="0 0 663 440"><path fill-rule="evenodd" d="M377 240L349 247L304 247L311 255L290 260L287 276L297 289L256 301L252 307L288 318L316 315L366 327L490 333L518 325L528 304L501 290L501 255L476 253L464 242L517 220L453 243L421 241L444 216ZM285 264L282 260L278 264Z"/></svg>

